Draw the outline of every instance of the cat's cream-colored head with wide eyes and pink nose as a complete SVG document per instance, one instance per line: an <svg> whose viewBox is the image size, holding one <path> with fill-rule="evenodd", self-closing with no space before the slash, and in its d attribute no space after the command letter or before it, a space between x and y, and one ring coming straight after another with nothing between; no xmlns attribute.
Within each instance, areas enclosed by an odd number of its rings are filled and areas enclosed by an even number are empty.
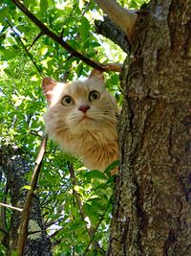
<svg viewBox="0 0 191 256"><path fill-rule="evenodd" d="M42 86L49 104L47 124L79 134L117 124L117 103L106 90L101 72L93 70L87 80L68 83L44 78Z"/></svg>

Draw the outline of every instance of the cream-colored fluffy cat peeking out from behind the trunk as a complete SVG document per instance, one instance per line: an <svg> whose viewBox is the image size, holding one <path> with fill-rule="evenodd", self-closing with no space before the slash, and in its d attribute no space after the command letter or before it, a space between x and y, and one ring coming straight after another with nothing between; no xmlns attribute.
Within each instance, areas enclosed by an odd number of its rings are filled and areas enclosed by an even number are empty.
<svg viewBox="0 0 191 256"><path fill-rule="evenodd" d="M104 86L102 73L93 70L86 81L42 81L49 103L46 132L63 151L82 158L91 170L104 171L118 158L115 98Z"/></svg>

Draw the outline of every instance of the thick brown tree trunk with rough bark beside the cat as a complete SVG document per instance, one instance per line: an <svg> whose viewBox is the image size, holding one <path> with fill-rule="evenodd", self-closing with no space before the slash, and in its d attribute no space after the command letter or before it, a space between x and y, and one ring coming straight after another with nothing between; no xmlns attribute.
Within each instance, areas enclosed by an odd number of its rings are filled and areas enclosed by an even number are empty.
<svg viewBox="0 0 191 256"><path fill-rule="evenodd" d="M124 63L108 255L191 255L191 3L139 14Z"/></svg>

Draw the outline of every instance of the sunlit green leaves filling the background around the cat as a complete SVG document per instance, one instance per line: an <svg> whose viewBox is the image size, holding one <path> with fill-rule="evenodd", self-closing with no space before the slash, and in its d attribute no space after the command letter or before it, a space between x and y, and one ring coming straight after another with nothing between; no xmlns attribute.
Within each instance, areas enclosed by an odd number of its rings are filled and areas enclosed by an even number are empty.
<svg viewBox="0 0 191 256"><path fill-rule="evenodd" d="M119 1L136 8L143 1ZM98 62L122 62L123 52L109 39L96 35L94 20L102 13L93 1L25 0L24 5L57 35L89 58ZM45 35L20 12L11 0L0 2L0 140L1 146L18 146L33 168L36 151L44 130L45 98L41 79L57 81L84 79L91 68L73 57ZM117 98L118 76L106 77L108 89ZM74 166L75 178L71 177ZM41 209L52 238L54 255L82 255L90 242L87 228L96 230L94 240L104 255L111 220L113 177L109 173L85 170L79 159L63 154L49 141L38 182ZM30 180L31 175L29 175ZM0 199L4 197L3 175ZM76 196L83 205L85 219L79 213ZM7 211L10 226L11 211ZM1 231L0 231L1 240ZM1 243L0 243L1 244ZM0 255L5 248L0 245ZM87 255L93 255L93 246Z"/></svg>

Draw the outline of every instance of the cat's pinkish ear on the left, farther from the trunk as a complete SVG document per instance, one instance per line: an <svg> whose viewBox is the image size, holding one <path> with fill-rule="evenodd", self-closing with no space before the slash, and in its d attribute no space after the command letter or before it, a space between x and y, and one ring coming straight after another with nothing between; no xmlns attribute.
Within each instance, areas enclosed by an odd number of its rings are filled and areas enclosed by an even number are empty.
<svg viewBox="0 0 191 256"><path fill-rule="evenodd" d="M49 105L52 102L53 89L56 86L56 84L57 84L57 81L54 81L52 78L49 78L49 77L45 77L42 80L42 89Z"/></svg>

